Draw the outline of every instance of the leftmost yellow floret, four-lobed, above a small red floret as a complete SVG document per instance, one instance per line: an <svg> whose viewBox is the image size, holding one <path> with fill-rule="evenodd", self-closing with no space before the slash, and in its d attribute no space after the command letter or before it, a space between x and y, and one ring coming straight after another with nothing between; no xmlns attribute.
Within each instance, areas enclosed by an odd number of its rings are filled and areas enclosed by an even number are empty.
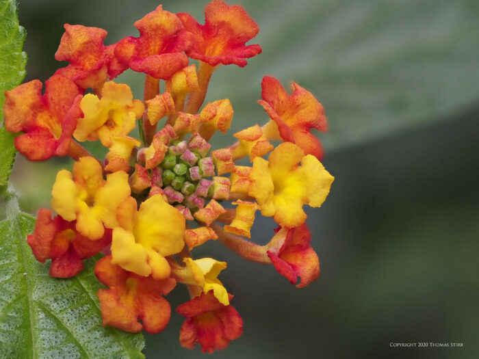
<svg viewBox="0 0 479 359"><path fill-rule="evenodd" d="M123 171L103 179L100 164L92 157L81 157L67 170L58 172L51 191L53 209L65 220L77 221L77 231L89 239L103 237L105 227L115 228L118 206L130 195L128 175Z"/></svg>

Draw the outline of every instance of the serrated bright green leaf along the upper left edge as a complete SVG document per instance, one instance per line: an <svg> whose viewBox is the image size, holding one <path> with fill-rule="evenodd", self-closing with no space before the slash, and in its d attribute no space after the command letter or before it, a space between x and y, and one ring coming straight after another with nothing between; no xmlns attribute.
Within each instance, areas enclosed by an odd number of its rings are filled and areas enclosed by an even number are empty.
<svg viewBox="0 0 479 359"><path fill-rule="evenodd" d="M5 91L12 90L25 77L27 54L22 52L25 29L18 26L16 2L0 0L0 122L3 119ZM13 135L0 126L0 188L5 186L15 159Z"/></svg>

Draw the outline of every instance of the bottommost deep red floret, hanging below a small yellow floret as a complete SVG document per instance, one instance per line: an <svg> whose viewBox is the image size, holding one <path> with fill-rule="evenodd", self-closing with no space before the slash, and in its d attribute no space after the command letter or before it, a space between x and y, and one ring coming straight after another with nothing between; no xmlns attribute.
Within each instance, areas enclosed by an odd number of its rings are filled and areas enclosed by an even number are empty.
<svg viewBox="0 0 479 359"><path fill-rule="evenodd" d="M232 298L229 294L229 300ZM181 304L177 312L187 318L181 326L180 344L188 349L198 343L203 353L213 353L243 333L243 320L236 309L221 304L211 291Z"/></svg>

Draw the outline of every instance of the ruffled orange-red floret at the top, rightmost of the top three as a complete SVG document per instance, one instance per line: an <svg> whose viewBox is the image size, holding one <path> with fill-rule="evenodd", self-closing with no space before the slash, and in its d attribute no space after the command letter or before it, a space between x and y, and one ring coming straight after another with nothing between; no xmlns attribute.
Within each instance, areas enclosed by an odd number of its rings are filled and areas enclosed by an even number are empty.
<svg viewBox="0 0 479 359"><path fill-rule="evenodd" d="M194 44L186 53L211 66L235 64L244 67L245 58L261 53L257 44L246 46L259 31L258 25L239 5L212 1L205 7L205 25L190 14L178 14L185 29L194 36Z"/></svg>

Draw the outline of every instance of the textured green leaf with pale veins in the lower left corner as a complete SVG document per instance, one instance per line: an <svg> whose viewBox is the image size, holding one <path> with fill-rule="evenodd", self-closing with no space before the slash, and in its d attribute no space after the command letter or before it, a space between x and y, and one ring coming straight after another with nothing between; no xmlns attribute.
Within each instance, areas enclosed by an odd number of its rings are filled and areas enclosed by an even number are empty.
<svg viewBox="0 0 479 359"><path fill-rule="evenodd" d="M49 276L27 244L35 219L13 197L0 222L0 358L144 358L142 334L103 328L95 258L70 279Z"/></svg>

